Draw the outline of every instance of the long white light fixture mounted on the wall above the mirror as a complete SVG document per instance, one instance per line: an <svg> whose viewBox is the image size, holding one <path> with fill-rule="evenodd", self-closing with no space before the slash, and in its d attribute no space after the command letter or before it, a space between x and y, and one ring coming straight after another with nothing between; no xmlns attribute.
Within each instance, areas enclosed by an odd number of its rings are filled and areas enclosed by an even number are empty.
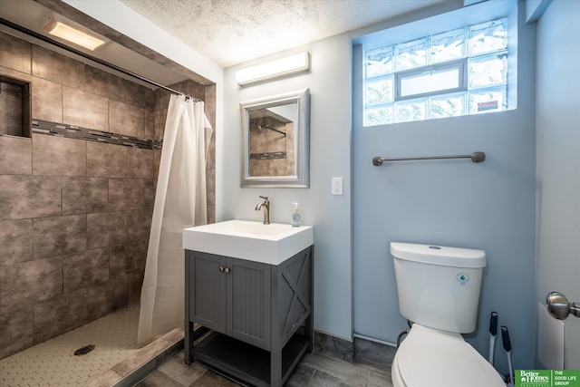
<svg viewBox="0 0 580 387"><path fill-rule="evenodd" d="M256 64L236 72L237 84L240 86L253 82L281 77L291 73L301 73L310 69L310 53L295 53L275 59L274 61Z"/></svg>

